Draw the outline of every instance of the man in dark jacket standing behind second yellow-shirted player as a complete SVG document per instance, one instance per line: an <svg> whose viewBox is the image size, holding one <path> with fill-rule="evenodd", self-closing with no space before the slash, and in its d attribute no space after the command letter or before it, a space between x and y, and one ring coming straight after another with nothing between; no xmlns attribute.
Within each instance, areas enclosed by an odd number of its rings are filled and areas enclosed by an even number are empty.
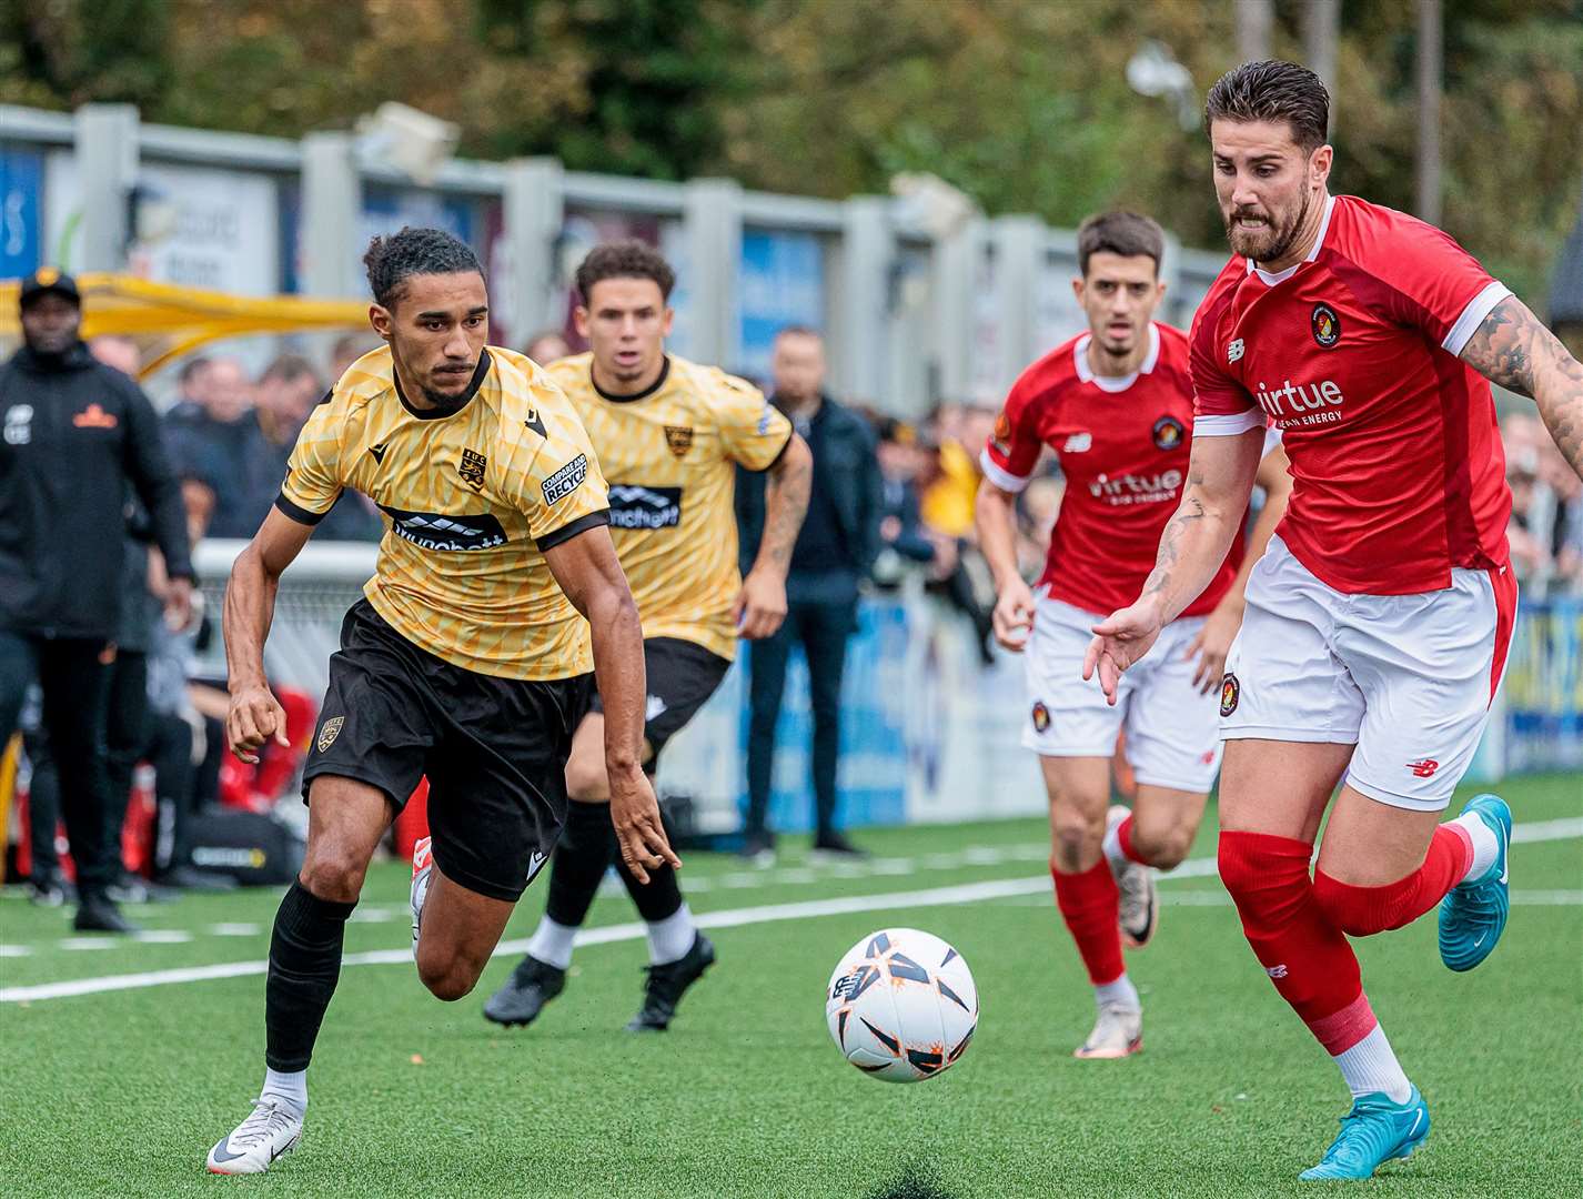
<svg viewBox="0 0 1583 1199"><path fill-rule="evenodd" d="M752 721L742 854L768 860L774 851L768 814L776 721L787 659L793 641L801 641L814 710L814 849L855 855L858 851L836 824L836 768L847 638L856 630L858 584L867 578L880 551L883 497L874 432L863 417L825 394L825 345L814 329L782 329L776 337L773 371L771 399L814 451L814 486L792 550L785 624L774 637L755 641L749 654ZM742 561L750 564L763 532L763 482L738 472L736 496Z"/></svg>

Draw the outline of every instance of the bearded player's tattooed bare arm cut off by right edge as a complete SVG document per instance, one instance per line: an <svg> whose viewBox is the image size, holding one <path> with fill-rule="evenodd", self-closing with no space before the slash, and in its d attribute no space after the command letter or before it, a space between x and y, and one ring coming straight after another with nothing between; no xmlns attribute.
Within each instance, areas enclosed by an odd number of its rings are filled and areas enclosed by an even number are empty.
<svg viewBox="0 0 1583 1199"><path fill-rule="evenodd" d="M1583 366L1521 299L1496 304L1461 360L1491 383L1536 401L1561 455L1583 477Z"/></svg>

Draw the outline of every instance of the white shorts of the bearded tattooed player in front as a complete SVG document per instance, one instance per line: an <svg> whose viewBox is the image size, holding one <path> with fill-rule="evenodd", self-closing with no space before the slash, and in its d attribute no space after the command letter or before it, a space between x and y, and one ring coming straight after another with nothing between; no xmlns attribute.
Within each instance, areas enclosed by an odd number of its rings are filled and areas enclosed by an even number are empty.
<svg viewBox="0 0 1583 1199"><path fill-rule="evenodd" d="M1355 744L1353 789L1441 811L1479 748L1515 618L1505 567L1452 570L1444 591L1352 596L1271 537L1225 659L1220 735Z"/></svg>

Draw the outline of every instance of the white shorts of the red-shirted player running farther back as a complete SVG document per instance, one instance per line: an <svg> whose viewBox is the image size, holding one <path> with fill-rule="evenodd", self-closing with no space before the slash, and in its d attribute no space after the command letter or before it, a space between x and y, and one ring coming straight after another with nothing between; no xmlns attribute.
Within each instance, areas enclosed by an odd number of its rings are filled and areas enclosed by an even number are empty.
<svg viewBox="0 0 1583 1199"><path fill-rule="evenodd" d="M1040 596L1023 651L1027 719L1023 744L1043 757L1111 757L1127 733L1127 762L1138 782L1208 792L1220 768L1216 695L1192 684L1187 646L1201 616L1165 626L1160 638L1121 676L1116 706L1099 678L1083 681L1083 654L1105 613Z"/></svg>

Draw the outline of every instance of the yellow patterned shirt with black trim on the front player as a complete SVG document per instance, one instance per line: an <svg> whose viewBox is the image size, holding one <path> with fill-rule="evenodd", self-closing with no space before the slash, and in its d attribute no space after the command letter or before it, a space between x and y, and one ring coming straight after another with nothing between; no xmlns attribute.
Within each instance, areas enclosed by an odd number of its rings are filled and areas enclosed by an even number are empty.
<svg viewBox="0 0 1583 1199"><path fill-rule="evenodd" d="M594 668L543 551L608 523L605 478L543 367L491 347L454 405L415 409L391 352L364 355L302 426L275 507L313 524L342 488L385 513L364 594L399 634L481 675Z"/></svg>

